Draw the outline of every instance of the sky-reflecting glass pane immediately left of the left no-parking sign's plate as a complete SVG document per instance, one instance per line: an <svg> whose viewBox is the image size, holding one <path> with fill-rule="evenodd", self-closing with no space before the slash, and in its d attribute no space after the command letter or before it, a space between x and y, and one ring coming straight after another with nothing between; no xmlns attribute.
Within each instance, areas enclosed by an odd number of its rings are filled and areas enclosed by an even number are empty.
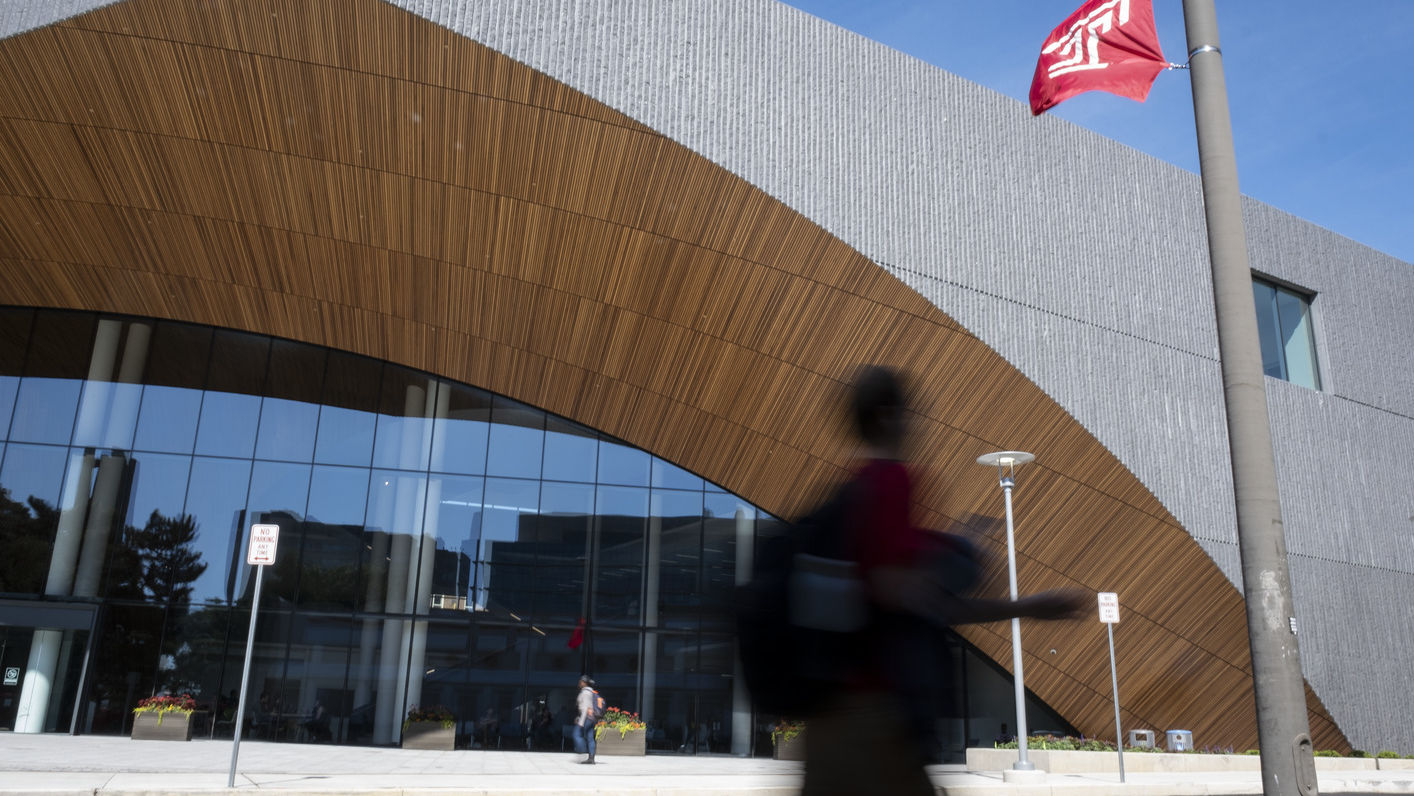
<svg viewBox="0 0 1414 796"><path fill-rule="evenodd" d="M246 551L238 544L245 540L249 485L249 461L192 460L187 513L197 520L197 546L211 564L197 578L194 602L230 601L246 587Z"/></svg>

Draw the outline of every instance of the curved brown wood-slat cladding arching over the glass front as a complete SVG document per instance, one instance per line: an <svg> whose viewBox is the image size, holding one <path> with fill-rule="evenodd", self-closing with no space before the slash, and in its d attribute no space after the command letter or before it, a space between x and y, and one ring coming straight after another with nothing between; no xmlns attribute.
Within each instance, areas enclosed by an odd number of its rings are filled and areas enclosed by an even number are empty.
<svg viewBox="0 0 1414 796"><path fill-rule="evenodd" d="M481 385L789 515L847 467L860 362L921 399L923 522L1025 591L1117 591L1126 725L1254 747L1237 591L995 352L771 197L376 0L129 0L0 41L0 303L249 329ZM990 584L1004 591L1004 574ZM964 635L1010 660L1004 624ZM1103 626L1028 624L1027 683L1113 727ZM1349 744L1308 689L1318 748Z"/></svg>

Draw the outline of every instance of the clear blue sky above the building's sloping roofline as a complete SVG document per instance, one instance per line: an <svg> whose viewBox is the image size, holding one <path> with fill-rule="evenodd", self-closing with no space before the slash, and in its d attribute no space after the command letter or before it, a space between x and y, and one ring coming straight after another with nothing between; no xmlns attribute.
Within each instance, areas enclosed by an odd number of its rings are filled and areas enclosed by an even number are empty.
<svg viewBox="0 0 1414 796"><path fill-rule="evenodd" d="M1083 0L785 0L1027 100L1041 44ZM1182 0L1152 0L1186 58ZM1414 263L1414 0L1217 0L1241 192ZM1048 110L1198 172L1186 71L1145 103L1103 92Z"/></svg>

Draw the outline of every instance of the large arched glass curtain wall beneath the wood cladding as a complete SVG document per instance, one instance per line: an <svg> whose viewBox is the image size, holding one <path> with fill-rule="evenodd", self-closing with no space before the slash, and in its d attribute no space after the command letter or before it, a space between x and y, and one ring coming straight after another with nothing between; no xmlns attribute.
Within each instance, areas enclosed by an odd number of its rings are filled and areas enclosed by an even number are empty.
<svg viewBox="0 0 1414 796"><path fill-rule="evenodd" d="M6 625L20 731L124 734L137 700L191 693L230 737L249 527L274 523L247 737L396 744L409 708L445 706L462 748L561 749L588 673L653 749L748 754L727 599L768 520L427 373L0 308L0 599L96 611L92 633Z"/></svg>

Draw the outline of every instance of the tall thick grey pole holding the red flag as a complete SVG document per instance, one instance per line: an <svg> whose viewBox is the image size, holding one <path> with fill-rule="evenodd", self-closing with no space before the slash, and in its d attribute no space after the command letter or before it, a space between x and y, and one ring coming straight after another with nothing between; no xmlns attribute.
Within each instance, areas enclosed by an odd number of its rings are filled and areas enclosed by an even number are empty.
<svg viewBox="0 0 1414 796"><path fill-rule="evenodd" d="M1213 0L1184 0L1266 796L1316 793Z"/></svg>

